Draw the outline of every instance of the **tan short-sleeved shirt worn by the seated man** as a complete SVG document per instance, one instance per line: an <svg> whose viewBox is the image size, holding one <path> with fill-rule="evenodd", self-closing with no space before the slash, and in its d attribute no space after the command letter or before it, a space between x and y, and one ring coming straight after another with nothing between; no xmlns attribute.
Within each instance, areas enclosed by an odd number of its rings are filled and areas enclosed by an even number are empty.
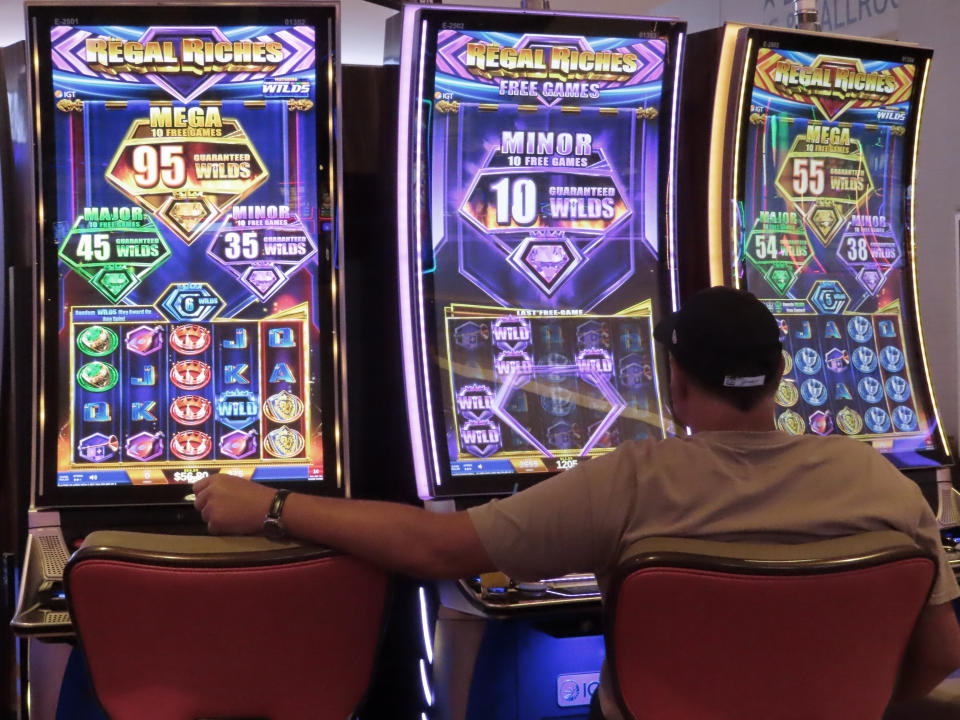
<svg viewBox="0 0 960 720"><path fill-rule="evenodd" d="M920 488L868 444L841 436L730 431L629 442L469 513L511 577L593 572L604 594L623 550L644 537L796 543L892 529L939 557L930 604L960 595Z"/></svg>

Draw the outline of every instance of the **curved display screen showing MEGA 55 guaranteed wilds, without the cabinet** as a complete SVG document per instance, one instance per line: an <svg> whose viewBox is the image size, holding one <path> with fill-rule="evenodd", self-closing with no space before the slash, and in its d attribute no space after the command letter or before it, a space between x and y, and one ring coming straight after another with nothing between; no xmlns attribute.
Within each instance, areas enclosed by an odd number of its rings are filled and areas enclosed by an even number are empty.
<svg viewBox="0 0 960 720"><path fill-rule="evenodd" d="M936 447L909 229L922 71L761 43L740 174L742 278L785 347L779 427L869 440L905 465Z"/></svg>

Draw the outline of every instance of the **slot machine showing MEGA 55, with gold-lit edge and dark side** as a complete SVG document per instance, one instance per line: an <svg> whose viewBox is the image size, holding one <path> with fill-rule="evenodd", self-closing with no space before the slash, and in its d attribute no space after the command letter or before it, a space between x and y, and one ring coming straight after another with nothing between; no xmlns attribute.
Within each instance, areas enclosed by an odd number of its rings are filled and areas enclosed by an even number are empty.
<svg viewBox="0 0 960 720"><path fill-rule="evenodd" d="M870 443L936 509L952 458L924 352L914 194L931 57L779 28L695 33L682 142L704 152L679 176L681 233L708 241L699 284L746 288L780 323L778 427Z"/></svg>

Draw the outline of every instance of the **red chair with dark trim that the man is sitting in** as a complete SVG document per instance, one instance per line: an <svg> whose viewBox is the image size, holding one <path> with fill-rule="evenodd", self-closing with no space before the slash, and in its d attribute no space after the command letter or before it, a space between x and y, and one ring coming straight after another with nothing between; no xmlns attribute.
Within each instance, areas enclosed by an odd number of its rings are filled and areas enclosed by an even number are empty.
<svg viewBox="0 0 960 720"><path fill-rule="evenodd" d="M878 720L935 564L901 533L800 545L650 538L605 608L637 720Z"/></svg>

